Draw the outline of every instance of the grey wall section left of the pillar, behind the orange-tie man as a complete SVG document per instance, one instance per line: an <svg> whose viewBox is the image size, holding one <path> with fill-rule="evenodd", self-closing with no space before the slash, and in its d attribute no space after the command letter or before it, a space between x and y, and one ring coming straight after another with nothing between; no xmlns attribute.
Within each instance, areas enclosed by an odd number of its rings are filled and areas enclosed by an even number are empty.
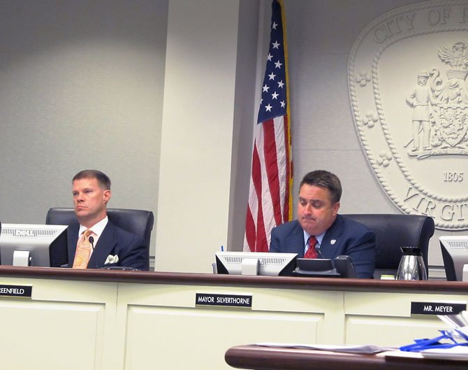
<svg viewBox="0 0 468 370"><path fill-rule="evenodd" d="M110 176L110 207L156 215L167 12L167 0L1 1L1 222L71 206L87 168Z"/></svg>

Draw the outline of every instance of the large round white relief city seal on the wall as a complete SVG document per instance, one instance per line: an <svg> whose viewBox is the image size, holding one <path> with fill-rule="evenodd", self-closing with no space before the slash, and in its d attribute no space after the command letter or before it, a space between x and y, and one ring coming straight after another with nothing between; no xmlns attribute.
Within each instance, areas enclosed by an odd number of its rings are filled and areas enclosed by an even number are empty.
<svg viewBox="0 0 468 370"><path fill-rule="evenodd" d="M396 8L349 56L354 124L383 190L438 229L468 229L468 1Z"/></svg>

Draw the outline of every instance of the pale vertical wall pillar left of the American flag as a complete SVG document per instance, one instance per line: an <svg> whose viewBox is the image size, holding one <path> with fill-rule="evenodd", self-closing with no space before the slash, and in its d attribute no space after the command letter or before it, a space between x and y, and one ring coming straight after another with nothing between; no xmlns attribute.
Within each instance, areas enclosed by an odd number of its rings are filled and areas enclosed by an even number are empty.
<svg viewBox="0 0 468 370"><path fill-rule="evenodd" d="M256 32L256 18L244 12L242 21ZM256 56L256 38L240 39L245 24L239 14L240 1L169 4L156 227L159 271L210 272L214 252L227 247L231 163L237 157L233 141L238 141L233 122L236 106L245 106L238 100L236 105L236 81L243 84L245 76L255 76L255 64L245 66L240 54L247 52L250 60L249 54ZM249 82L237 95L252 96ZM236 127L242 127L242 119Z"/></svg>

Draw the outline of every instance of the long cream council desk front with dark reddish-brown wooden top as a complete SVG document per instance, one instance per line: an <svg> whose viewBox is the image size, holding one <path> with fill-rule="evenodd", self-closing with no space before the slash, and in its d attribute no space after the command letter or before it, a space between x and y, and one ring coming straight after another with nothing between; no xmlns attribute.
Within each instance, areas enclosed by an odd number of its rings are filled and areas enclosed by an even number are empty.
<svg viewBox="0 0 468 370"><path fill-rule="evenodd" d="M86 350L84 369L102 370L231 369L224 353L239 343L360 344L364 339L358 335L364 331L365 343L379 344L385 336L386 345L404 345L411 343L414 332L402 329L402 334L388 334L385 327L412 325L421 329L417 336L435 336L438 328L445 327L435 316L411 315L411 299L466 301L468 293L468 284L457 282L13 266L0 266L0 284L33 285L31 299L0 297L0 314L8 322L8 332L15 332L15 320L24 320L21 312L39 322L24 353L34 353L36 341L39 348L58 346L68 357L69 348L89 337L96 350ZM199 306L196 293L251 294L252 307ZM11 304L23 311L10 309ZM67 324L70 316L83 323L76 338ZM395 321L388 322L389 318ZM50 329L49 322L59 328ZM381 323L377 329L376 322ZM22 330L27 331L28 325ZM17 342L23 334L15 335ZM3 341L3 351L18 355L14 342ZM190 349L174 356L175 346ZM36 368L61 370L64 365L45 362L45 357L23 363L14 368L31 369L36 364Z"/></svg>

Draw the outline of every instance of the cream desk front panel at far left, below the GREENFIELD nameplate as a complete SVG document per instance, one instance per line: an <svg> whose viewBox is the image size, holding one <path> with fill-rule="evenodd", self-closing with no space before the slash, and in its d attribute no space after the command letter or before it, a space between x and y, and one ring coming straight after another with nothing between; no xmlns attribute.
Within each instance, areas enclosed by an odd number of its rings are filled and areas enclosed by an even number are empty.
<svg viewBox="0 0 468 370"><path fill-rule="evenodd" d="M31 299L0 297L1 369L103 369L117 283L0 277L0 284L32 285Z"/></svg>

